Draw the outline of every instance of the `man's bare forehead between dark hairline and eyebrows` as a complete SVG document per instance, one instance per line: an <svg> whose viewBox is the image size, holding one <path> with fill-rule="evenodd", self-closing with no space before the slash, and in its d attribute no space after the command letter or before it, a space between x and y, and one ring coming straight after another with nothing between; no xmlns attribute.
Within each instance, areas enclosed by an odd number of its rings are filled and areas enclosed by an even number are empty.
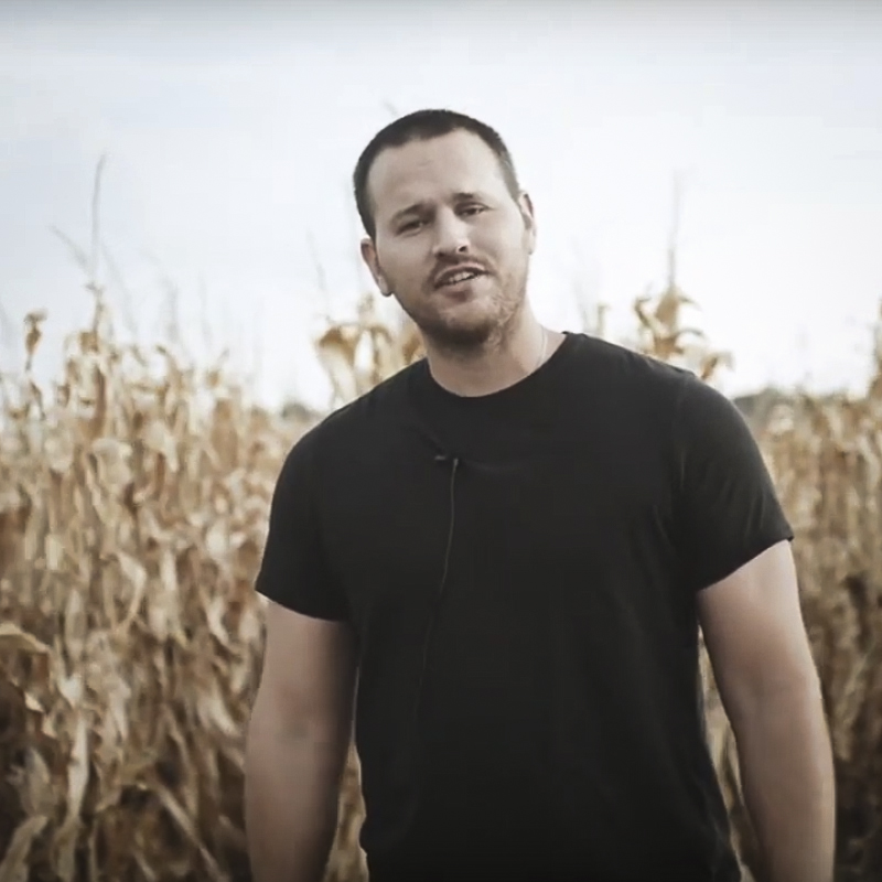
<svg viewBox="0 0 882 882"><path fill-rule="evenodd" d="M458 192L507 192L496 154L467 131L387 148L375 160L367 184L377 215Z"/></svg>

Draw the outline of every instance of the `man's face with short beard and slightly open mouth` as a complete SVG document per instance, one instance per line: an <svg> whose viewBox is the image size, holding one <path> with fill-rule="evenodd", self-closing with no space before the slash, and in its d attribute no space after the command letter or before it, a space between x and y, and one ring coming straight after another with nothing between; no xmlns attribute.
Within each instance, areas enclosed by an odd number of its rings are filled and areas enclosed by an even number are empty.
<svg viewBox="0 0 882 882"><path fill-rule="evenodd" d="M535 225L529 198L512 197L490 147L455 131L386 149L368 193L376 235L362 254L380 291L442 348L501 338L524 303ZM478 275L443 283L456 267Z"/></svg>

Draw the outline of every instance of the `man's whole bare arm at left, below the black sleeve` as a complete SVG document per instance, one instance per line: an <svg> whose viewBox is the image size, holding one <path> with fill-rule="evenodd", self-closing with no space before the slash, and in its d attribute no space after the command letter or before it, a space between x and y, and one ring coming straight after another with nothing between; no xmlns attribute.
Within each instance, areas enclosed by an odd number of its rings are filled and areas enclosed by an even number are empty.
<svg viewBox="0 0 882 882"><path fill-rule="evenodd" d="M320 882L324 875L352 734L355 671L347 624L270 602L245 761L255 882Z"/></svg>

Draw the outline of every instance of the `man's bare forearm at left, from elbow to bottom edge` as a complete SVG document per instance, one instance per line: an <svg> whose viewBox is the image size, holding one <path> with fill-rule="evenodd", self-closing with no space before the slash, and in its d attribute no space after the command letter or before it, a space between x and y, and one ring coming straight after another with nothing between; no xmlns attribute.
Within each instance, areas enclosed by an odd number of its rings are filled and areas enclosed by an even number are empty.
<svg viewBox="0 0 882 882"><path fill-rule="evenodd" d="M254 882L321 882L337 824L341 747L249 732L245 824Z"/></svg>

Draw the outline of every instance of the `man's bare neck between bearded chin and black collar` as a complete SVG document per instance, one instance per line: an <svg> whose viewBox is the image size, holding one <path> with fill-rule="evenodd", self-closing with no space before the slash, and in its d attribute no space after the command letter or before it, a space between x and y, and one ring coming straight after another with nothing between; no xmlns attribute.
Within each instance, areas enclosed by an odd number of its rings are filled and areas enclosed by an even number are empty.
<svg viewBox="0 0 882 882"><path fill-rule="evenodd" d="M525 305L499 340L472 352L450 352L424 340L434 380L454 395L477 397L514 386L545 363L559 335L542 327Z"/></svg>

